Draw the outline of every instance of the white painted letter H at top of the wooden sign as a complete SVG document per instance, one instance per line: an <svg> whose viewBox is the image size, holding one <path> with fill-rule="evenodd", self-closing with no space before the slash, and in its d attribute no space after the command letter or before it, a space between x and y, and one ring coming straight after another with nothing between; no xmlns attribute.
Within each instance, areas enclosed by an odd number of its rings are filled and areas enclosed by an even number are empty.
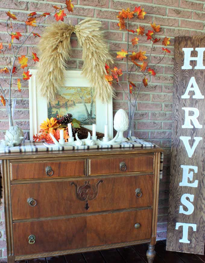
<svg viewBox="0 0 205 263"><path fill-rule="evenodd" d="M193 48L182 48L184 51L184 66L182 66L182 69L192 69L192 66L190 66L190 60L196 60L197 66L194 67L194 69L205 69L205 66L203 66L203 52L205 51L205 47L197 47L195 50L198 52L197 57L191 57L191 51L193 51Z"/></svg>

